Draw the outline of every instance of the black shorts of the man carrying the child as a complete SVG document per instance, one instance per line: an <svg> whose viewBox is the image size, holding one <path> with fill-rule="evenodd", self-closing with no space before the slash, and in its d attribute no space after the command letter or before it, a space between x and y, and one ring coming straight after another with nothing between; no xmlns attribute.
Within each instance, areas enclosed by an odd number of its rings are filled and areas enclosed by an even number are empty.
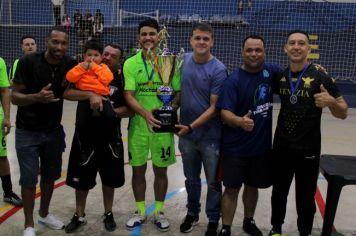
<svg viewBox="0 0 356 236"><path fill-rule="evenodd" d="M85 164L81 162L80 144L76 132L73 136L72 148L69 155L66 184L75 189L89 190L96 185L96 175L99 172L103 185L118 188L125 183L124 153L121 139L119 158L115 157L107 141L97 138L94 154Z"/></svg>

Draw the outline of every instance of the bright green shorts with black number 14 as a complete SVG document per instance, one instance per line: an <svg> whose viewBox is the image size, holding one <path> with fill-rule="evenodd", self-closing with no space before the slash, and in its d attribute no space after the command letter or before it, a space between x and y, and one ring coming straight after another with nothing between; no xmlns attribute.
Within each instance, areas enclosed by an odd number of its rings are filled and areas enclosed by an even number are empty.
<svg viewBox="0 0 356 236"><path fill-rule="evenodd" d="M128 149L131 166L146 164L149 151L151 151L152 163L157 167L168 167L176 162L173 133L129 130Z"/></svg>

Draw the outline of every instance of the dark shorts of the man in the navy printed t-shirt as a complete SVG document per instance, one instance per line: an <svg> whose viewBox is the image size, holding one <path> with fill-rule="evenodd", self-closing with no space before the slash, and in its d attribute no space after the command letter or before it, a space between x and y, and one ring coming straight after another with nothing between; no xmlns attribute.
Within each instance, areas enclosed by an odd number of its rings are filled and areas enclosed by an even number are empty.
<svg viewBox="0 0 356 236"><path fill-rule="evenodd" d="M242 184L256 188L272 185L270 152L260 156L226 157L222 159L222 180L225 187L240 188Z"/></svg>

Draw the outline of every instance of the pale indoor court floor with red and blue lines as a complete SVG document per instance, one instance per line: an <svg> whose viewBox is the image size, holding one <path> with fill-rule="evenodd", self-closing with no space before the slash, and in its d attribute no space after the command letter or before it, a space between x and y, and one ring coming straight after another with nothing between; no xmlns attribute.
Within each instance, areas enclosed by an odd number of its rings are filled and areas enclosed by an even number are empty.
<svg viewBox="0 0 356 236"><path fill-rule="evenodd" d="M274 123L277 118L279 104L274 106ZM62 177L56 182L56 189L53 194L50 212L60 218L65 224L69 222L75 209L74 190L64 184L68 154L70 151L71 139L74 131L74 116L76 103L65 101L64 114L62 124L65 127L67 134L67 148L63 155ZM14 125L16 116L16 107L12 106L11 121ZM122 121L122 131L125 143L125 161L127 161L127 119ZM18 185L19 168L14 147L14 131L7 137L8 157L11 162L12 180L16 193L20 193ZM131 189L131 167L125 164L126 183L123 187L115 192L115 200L113 214L117 223L117 229L114 232L106 232L102 223L103 201L101 193L100 179L97 179L97 186L90 191L87 201L86 217L88 224L80 228L72 235L185 235L180 233L179 225L186 214L186 191L184 187L184 176L182 161L179 150L177 148L177 163L169 168L169 186L165 202L164 213L171 224L170 231L166 233L159 232L152 223L152 216L149 217L148 223L142 228L135 231L127 231L125 228L126 221L132 216L135 211L135 202ZM338 120L331 116L328 109L324 109L322 118L322 154L339 154L339 155L355 155L356 156L356 109L349 109L349 116L346 120ZM153 195L153 172L151 163L149 162L148 171L146 173L147 191L146 191L146 206L147 212L153 212L154 195ZM355 170L356 171L356 170ZM195 229L186 234L187 236L204 235L207 225L205 215L205 196L206 184L204 174L202 174L202 212L200 214L200 223ZM327 181L320 175L318 180L317 191L317 212L314 218L314 226L312 235L320 235L323 223L323 213L326 200ZM1 190L2 191L2 190ZM2 195L2 192L0 192ZM240 194L241 195L241 194ZM334 227L342 235L353 235L356 230L356 186L345 186L341 192L339 205L334 221ZM270 197L271 188L260 190L259 202L256 209L255 221L256 224L267 235L271 229L270 225ZM37 222L37 211L39 207L40 193L36 195L35 203L35 221ZM235 214L232 227L232 235L246 235L242 230L243 207L241 199L239 199L238 209ZM283 225L283 234L297 236L296 226L296 210L294 200L294 185L292 185L285 224ZM23 233L24 216L21 208L13 208L9 204L0 201L0 235L1 236L20 236ZM51 230L42 225L35 224L36 235L55 236L66 235L64 230ZM356 232L355 232L356 233ZM356 235L356 234L354 234Z"/></svg>

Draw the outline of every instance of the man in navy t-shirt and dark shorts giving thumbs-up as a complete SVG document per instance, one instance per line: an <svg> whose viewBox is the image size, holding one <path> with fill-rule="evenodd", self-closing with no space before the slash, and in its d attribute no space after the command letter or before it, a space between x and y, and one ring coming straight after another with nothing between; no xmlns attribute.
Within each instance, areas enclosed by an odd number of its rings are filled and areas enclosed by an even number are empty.
<svg viewBox="0 0 356 236"><path fill-rule="evenodd" d="M272 162L272 81L280 69L264 62L265 41L258 35L243 40L241 55L243 64L225 80L217 105L224 122L222 179L225 191L220 236L231 234L242 184L243 230L252 236L262 236L253 218L258 188L272 184L268 168Z"/></svg>

